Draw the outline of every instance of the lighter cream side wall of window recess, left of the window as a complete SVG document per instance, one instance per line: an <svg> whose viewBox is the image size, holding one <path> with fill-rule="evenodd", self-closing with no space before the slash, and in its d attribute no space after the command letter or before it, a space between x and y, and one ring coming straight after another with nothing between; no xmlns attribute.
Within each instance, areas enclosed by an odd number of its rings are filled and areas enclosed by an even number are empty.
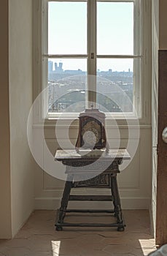
<svg viewBox="0 0 167 256"><path fill-rule="evenodd" d="M12 236L34 209L26 124L32 103L32 1L9 0L9 116Z"/></svg>

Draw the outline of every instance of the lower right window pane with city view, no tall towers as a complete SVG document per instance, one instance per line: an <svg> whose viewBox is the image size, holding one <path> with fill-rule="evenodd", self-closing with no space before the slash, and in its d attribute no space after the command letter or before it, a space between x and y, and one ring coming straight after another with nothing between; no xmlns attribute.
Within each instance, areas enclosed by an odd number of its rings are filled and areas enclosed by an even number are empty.
<svg viewBox="0 0 167 256"><path fill-rule="evenodd" d="M133 59L98 59L97 107L133 112Z"/></svg>

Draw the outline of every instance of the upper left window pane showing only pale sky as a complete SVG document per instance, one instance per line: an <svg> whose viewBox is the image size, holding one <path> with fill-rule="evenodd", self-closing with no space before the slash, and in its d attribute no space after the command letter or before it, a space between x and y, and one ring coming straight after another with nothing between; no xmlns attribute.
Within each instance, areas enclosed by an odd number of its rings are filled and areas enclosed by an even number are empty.
<svg viewBox="0 0 167 256"><path fill-rule="evenodd" d="M48 3L48 53L87 53L87 2Z"/></svg>

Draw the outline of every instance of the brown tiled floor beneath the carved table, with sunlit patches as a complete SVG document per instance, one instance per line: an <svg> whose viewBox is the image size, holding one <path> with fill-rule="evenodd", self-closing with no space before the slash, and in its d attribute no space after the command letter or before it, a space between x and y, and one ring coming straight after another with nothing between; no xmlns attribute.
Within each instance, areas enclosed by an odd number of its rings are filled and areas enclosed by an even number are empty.
<svg viewBox="0 0 167 256"><path fill-rule="evenodd" d="M127 225L124 232L117 232L114 227L66 227L55 231L55 211L34 211L14 239L0 241L0 256L143 256L154 251L148 211L123 211L123 214ZM97 217L73 214L66 220L79 218L91 222L111 220L109 215L99 214Z"/></svg>

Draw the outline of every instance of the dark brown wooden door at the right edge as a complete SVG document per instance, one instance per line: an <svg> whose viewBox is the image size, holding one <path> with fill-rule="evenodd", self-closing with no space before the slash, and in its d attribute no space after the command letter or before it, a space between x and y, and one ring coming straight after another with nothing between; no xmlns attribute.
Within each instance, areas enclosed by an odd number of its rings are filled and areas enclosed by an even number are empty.
<svg viewBox="0 0 167 256"><path fill-rule="evenodd" d="M158 50L158 174L155 242L167 244L167 144L162 132L167 127L167 50Z"/></svg>

